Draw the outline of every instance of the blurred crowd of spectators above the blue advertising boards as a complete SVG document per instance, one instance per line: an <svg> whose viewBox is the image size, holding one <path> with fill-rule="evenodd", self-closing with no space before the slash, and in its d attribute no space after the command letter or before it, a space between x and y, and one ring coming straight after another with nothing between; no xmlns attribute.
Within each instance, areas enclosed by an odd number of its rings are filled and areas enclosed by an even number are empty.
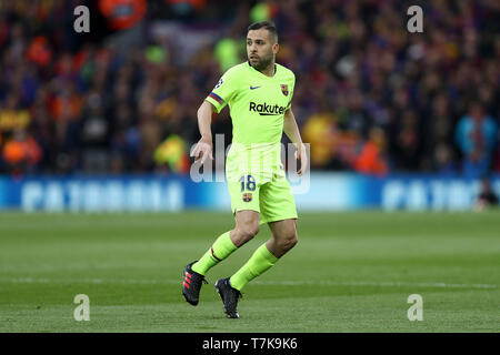
<svg viewBox="0 0 500 355"><path fill-rule="evenodd" d="M126 51L72 30L80 3L0 0L0 173L187 173L197 108L264 19L313 170L500 172L498 0L89 1L110 32L141 26ZM217 36L181 59L148 31L162 20ZM230 142L228 110L213 132Z"/></svg>

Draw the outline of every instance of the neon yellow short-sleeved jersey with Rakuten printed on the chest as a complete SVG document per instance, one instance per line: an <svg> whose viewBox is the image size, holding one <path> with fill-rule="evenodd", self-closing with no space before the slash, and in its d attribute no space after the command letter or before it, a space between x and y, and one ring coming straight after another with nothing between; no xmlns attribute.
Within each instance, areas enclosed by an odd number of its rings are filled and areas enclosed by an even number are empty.
<svg viewBox="0 0 500 355"><path fill-rule="evenodd" d="M230 68L206 100L218 113L229 105L232 145L277 146L294 84L296 75L283 65L276 64L274 75L267 77L244 62Z"/></svg>

